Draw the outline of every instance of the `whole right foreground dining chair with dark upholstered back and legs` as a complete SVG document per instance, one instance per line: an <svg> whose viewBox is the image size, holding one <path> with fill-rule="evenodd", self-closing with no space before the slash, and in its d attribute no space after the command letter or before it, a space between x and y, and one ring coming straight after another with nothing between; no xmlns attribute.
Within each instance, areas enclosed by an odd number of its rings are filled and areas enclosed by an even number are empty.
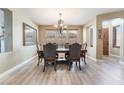
<svg viewBox="0 0 124 93"><path fill-rule="evenodd" d="M69 46L69 70L71 69L71 64L72 62L77 62L79 63L79 69L81 70L80 66L80 57L81 57L81 45L78 43L74 43Z"/></svg>

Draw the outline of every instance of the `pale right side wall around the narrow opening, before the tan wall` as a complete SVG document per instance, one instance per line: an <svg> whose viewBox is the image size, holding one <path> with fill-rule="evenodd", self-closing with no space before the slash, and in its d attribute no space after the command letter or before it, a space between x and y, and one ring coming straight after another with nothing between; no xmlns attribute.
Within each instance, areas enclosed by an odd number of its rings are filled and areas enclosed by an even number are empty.
<svg viewBox="0 0 124 93"><path fill-rule="evenodd" d="M87 27L92 26L93 28L93 47L88 46L87 47L87 55L92 57L93 59L96 59L96 19L92 19L87 24L83 26L83 42L87 42Z"/></svg>

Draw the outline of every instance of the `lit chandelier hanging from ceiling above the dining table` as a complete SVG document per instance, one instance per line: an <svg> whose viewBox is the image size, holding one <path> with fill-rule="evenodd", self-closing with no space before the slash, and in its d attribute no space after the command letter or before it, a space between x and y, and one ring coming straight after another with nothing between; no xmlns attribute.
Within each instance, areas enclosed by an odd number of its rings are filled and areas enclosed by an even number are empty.
<svg viewBox="0 0 124 93"><path fill-rule="evenodd" d="M62 34L63 30L67 30L67 26L64 25L64 20L62 20L62 13L59 13L59 18L60 19L58 20L58 24L54 25L54 27L59 32L59 34Z"/></svg>

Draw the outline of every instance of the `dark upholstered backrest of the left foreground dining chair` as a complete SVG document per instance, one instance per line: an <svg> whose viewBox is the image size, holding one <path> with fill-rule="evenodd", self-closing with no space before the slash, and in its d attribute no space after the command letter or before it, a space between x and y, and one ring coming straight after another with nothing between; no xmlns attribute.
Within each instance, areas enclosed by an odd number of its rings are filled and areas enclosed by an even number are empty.
<svg viewBox="0 0 124 93"><path fill-rule="evenodd" d="M54 59L56 58L56 45L48 43L43 45L43 53L45 59Z"/></svg>

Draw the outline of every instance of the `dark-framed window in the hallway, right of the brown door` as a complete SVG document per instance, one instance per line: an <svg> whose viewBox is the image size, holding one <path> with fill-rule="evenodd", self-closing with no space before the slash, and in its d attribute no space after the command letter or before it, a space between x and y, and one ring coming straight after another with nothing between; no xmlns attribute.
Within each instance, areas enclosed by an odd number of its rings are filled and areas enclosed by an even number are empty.
<svg viewBox="0 0 124 93"><path fill-rule="evenodd" d="M113 27L113 47L120 48L121 27L120 25Z"/></svg>

